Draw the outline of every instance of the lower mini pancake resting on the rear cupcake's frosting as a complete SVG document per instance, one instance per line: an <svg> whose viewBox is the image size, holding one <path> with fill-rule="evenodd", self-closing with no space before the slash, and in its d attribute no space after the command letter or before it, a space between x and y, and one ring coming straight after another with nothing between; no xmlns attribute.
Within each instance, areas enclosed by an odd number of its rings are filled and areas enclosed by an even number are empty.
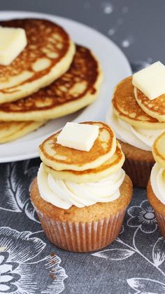
<svg viewBox="0 0 165 294"><path fill-rule="evenodd" d="M132 76L129 76L127 79L120 81L115 88L112 102L117 117L131 126L139 128L165 128L165 123L160 123L139 107L134 97L134 86L131 81Z"/></svg>

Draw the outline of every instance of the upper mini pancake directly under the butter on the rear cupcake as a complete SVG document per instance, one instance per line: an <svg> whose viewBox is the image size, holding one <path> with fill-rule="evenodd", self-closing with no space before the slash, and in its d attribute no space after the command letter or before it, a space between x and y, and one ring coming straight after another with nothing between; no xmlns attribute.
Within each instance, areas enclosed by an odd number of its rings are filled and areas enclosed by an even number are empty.
<svg viewBox="0 0 165 294"><path fill-rule="evenodd" d="M150 100L140 90L134 88L134 94L138 105L148 115L155 117L160 122L165 122L165 94Z"/></svg>

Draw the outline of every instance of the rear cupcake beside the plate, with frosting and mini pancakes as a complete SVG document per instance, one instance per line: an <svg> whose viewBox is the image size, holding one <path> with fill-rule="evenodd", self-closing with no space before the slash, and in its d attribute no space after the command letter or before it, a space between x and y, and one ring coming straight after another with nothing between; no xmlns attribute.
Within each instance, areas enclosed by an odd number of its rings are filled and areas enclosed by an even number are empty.
<svg viewBox="0 0 165 294"><path fill-rule="evenodd" d="M145 70L143 69L136 74L141 74ZM148 114L139 106L140 103L136 99L138 99L138 93L141 92L137 91L133 85L135 78L129 76L117 84L112 104L106 115L106 122L113 127L126 156L124 171L136 187L145 188L150 178L152 166L155 164L151 147L155 139L165 131L165 121L158 120L158 116L157 118L151 116L151 113ZM161 99L165 102L165 95ZM155 109L158 112L161 108L159 99L153 101L152 104L155 103Z"/></svg>

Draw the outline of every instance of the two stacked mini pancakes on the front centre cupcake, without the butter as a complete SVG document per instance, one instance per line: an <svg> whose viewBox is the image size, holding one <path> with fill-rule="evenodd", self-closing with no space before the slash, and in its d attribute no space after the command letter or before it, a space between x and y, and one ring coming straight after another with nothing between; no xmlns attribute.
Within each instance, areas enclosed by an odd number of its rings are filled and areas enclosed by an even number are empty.
<svg viewBox="0 0 165 294"><path fill-rule="evenodd" d="M40 145L43 168L55 178L77 183L96 182L122 167L124 154L112 129L105 123L85 123L99 126L99 136L89 152L57 144L59 132Z"/></svg>

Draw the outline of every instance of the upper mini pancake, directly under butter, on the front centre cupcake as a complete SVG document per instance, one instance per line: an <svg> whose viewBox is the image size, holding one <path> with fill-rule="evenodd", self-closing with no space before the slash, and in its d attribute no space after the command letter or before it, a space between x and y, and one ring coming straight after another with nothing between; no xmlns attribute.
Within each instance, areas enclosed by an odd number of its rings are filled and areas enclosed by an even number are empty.
<svg viewBox="0 0 165 294"><path fill-rule="evenodd" d="M101 166L113 156L116 149L113 130L106 123L91 121L85 121L85 123L99 126L99 136L89 152L57 144L57 137L60 133L58 132L39 146L41 160L46 166L56 171L85 171Z"/></svg>

